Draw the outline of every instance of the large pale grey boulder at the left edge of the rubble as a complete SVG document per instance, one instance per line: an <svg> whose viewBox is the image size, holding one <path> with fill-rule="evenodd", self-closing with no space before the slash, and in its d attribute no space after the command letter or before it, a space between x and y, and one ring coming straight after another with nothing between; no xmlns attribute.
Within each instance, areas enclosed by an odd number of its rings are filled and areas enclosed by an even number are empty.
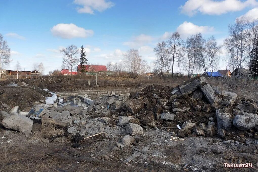
<svg viewBox="0 0 258 172"><path fill-rule="evenodd" d="M3 119L2 125L5 128L10 128L26 134L31 132L33 120L17 113L11 113Z"/></svg>

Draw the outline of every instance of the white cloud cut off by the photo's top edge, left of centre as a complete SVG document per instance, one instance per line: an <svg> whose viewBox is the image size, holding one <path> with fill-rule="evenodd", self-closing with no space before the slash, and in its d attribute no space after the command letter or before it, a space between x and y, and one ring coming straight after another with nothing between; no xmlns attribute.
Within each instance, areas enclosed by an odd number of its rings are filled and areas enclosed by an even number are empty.
<svg viewBox="0 0 258 172"><path fill-rule="evenodd" d="M113 2L106 0L74 0L74 3L82 6L77 8L78 13L89 14L94 14L94 11L102 12L115 5Z"/></svg>

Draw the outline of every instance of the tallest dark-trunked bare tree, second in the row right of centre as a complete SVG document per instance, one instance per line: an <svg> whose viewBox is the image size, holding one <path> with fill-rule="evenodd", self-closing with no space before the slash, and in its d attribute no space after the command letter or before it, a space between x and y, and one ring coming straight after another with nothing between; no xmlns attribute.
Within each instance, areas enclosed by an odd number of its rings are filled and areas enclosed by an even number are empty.
<svg viewBox="0 0 258 172"><path fill-rule="evenodd" d="M183 39L181 39L178 32L173 33L167 41L168 53L172 56L172 69L170 69L170 66L168 67L168 69L172 71L172 76L174 75L174 62L175 59L179 60L179 58L181 57L183 43Z"/></svg>

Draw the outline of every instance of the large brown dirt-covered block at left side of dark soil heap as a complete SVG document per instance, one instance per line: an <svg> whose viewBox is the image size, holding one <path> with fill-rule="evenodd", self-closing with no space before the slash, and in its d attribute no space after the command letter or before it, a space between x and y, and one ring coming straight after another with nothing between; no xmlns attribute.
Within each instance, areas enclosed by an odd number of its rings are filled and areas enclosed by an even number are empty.
<svg viewBox="0 0 258 172"><path fill-rule="evenodd" d="M125 107L132 113L136 114L144 107L144 102L141 99L131 99L125 101Z"/></svg>

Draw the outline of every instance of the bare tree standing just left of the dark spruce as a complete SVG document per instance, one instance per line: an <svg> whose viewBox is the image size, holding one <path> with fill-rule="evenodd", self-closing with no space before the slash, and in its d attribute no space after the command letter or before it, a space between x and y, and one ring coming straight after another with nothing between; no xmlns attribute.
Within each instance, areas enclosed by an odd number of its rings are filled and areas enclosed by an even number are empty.
<svg viewBox="0 0 258 172"><path fill-rule="evenodd" d="M63 54L62 68L69 69L72 75L72 69L74 69L78 62L78 59L75 56L78 53L77 46L69 45L68 47L60 50L60 52Z"/></svg>

